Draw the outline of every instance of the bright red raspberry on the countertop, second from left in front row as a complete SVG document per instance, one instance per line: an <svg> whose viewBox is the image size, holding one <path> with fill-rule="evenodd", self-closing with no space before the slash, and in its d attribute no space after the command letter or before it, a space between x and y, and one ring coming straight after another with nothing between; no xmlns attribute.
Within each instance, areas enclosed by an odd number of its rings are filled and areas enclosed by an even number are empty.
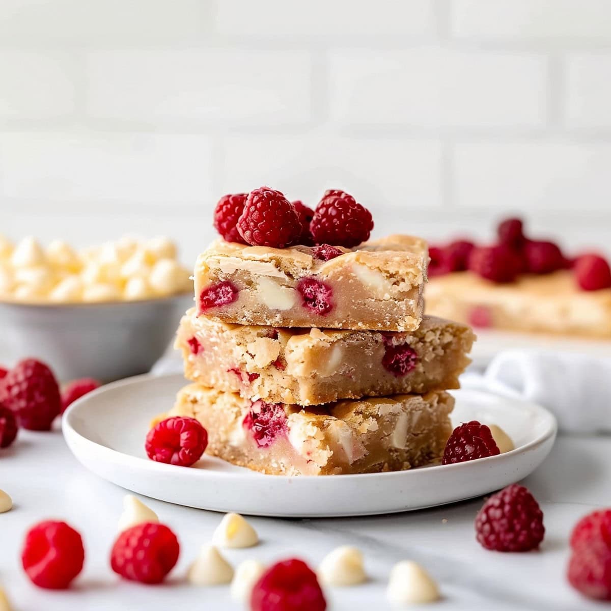
<svg viewBox="0 0 611 611"><path fill-rule="evenodd" d="M111 551L111 568L123 579L159 584L180 554L176 535L164 524L145 522L123 530Z"/></svg>

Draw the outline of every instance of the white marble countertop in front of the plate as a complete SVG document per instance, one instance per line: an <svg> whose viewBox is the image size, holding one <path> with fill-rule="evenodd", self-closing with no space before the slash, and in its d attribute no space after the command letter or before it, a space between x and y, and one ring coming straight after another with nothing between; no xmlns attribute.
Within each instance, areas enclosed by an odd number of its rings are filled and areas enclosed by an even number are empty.
<svg viewBox="0 0 611 611"><path fill-rule="evenodd" d="M359 546L371 581L328 590L330 610L389 609L384 591L387 576L392 565L404 558L421 562L441 585L444 600L428 609L600 609L569 587L565 569L573 524L591 509L611 505L609 453L611 437L561 436L545 463L525 480L545 516L546 538L539 552L500 554L481 548L473 521L482 500L475 499L368 518L250 518L262 543L225 555L234 565L251 557L273 562L297 555L315 566L337 545ZM18 442L0 454L0 465L0 488L15 503L12 511L0 514L0 583L15 611L241 609L230 600L229 588L196 588L183 580L199 546L210 540L220 514L146 500L177 533L180 560L165 585L122 582L112 573L108 558L126 494L123 489L77 463L59 431L21 431ZM21 570L24 532L47 518L65 519L84 537L85 569L70 591L38 590Z"/></svg>

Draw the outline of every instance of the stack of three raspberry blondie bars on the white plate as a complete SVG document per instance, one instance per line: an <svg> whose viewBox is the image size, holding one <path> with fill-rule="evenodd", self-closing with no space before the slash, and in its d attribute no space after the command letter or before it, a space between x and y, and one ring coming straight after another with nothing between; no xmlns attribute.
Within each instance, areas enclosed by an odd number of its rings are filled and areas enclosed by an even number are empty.
<svg viewBox="0 0 611 611"><path fill-rule="evenodd" d="M218 240L197 259L170 415L207 452L267 474L422 466L439 458L474 335L423 317L428 250L393 235L353 249Z"/></svg>

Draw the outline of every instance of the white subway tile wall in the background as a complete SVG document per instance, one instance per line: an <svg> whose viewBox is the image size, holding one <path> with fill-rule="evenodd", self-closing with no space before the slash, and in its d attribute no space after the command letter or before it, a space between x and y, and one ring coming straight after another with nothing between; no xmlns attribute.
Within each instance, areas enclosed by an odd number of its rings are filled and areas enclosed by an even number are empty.
<svg viewBox="0 0 611 611"><path fill-rule="evenodd" d="M524 213L611 251L609 0L2 0L0 233L170 233L344 188L376 233Z"/></svg>

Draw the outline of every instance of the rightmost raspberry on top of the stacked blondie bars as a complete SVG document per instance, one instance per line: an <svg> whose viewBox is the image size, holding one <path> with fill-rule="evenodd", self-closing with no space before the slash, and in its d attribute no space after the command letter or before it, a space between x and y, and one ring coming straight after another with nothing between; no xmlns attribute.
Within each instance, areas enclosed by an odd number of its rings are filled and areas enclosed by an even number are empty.
<svg viewBox="0 0 611 611"><path fill-rule="evenodd" d="M343 191L327 191L310 223L316 243L346 248L368 240L372 229L370 211Z"/></svg>

